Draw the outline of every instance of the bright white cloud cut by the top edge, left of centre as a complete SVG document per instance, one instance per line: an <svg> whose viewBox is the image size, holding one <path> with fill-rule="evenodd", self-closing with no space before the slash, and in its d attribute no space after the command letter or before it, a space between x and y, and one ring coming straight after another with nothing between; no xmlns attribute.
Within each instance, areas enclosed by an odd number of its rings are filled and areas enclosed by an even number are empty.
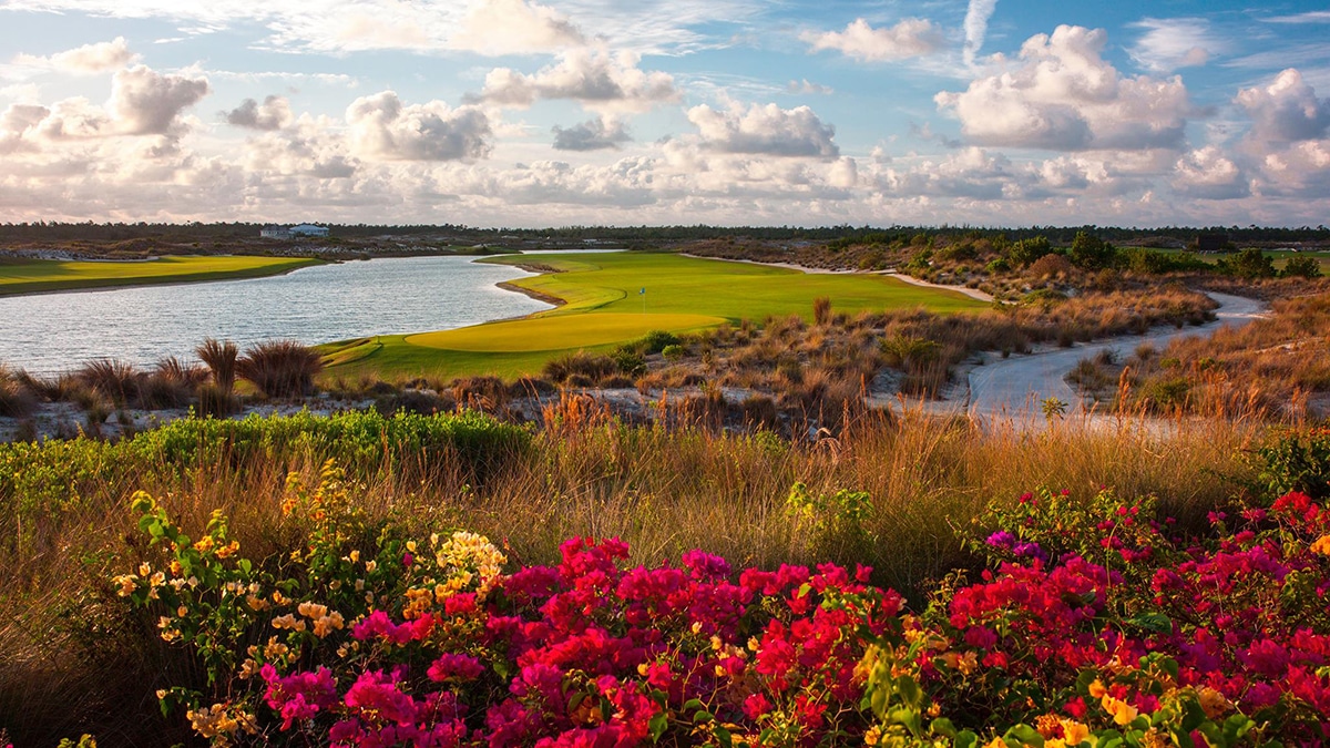
<svg viewBox="0 0 1330 748"><path fill-rule="evenodd" d="M584 44L587 39L552 8L523 0L481 0L472 5L454 49L480 55L532 55Z"/></svg>

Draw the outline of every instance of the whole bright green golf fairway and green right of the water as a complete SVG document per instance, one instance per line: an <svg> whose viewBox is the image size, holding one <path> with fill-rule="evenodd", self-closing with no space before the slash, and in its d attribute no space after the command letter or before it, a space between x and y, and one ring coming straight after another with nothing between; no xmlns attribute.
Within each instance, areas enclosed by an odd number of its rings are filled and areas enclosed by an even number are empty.
<svg viewBox="0 0 1330 748"><path fill-rule="evenodd" d="M458 330L379 335L321 346L326 377L464 377L536 373L576 350L608 351L650 330L685 333L770 315L813 317L813 299L835 311L986 309L963 294L876 274L811 274L786 268L672 253L523 254L483 260L543 270L509 286L563 302L521 319Z"/></svg>

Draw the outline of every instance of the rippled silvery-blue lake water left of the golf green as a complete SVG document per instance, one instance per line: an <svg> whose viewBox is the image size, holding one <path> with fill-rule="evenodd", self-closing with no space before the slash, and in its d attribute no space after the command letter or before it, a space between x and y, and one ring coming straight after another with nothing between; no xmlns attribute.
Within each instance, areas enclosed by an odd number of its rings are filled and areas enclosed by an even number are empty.
<svg viewBox="0 0 1330 748"><path fill-rule="evenodd" d="M464 327L549 309L495 287L529 276L469 257L386 258L286 276L0 298L0 363L57 374L90 358L193 359L203 338L322 343Z"/></svg>

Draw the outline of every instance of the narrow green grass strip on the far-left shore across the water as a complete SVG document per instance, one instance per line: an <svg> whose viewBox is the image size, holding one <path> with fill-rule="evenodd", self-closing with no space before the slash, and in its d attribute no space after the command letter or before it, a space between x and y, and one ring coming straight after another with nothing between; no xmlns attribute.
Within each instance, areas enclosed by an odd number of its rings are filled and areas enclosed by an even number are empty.
<svg viewBox="0 0 1330 748"><path fill-rule="evenodd" d="M0 295L275 276L313 257L170 256L150 261L24 260L0 264Z"/></svg>

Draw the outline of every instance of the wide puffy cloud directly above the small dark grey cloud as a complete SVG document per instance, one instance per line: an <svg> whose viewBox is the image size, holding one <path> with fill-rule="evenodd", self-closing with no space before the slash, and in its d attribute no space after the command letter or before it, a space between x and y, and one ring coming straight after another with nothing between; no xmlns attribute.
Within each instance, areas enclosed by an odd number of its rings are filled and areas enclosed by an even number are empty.
<svg viewBox="0 0 1330 748"><path fill-rule="evenodd" d="M583 48L564 53L559 63L532 75L496 68L485 76L479 100L531 106L537 98L571 98L600 112L645 112L677 101L673 76L644 72L637 68L638 60L632 52L612 55Z"/></svg>

